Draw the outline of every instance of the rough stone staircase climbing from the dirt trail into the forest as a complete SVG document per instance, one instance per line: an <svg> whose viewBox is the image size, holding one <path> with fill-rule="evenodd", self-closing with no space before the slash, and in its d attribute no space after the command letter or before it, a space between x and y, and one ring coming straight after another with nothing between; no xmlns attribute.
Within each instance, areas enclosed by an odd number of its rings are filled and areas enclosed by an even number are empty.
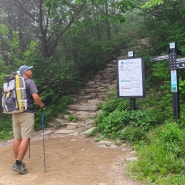
<svg viewBox="0 0 185 185"><path fill-rule="evenodd" d="M55 134L88 134L94 118L100 113L98 106L108 98L110 89L116 88L116 60L98 71L77 95L74 96L74 104L68 106L67 114L60 115L52 127L57 128Z"/></svg>

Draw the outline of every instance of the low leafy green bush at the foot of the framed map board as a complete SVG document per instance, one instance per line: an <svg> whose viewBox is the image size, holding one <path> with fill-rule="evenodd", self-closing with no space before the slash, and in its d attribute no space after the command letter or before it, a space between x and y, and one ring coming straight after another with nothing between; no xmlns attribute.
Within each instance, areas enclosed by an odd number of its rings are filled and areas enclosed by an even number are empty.
<svg viewBox="0 0 185 185"><path fill-rule="evenodd" d="M109 138L120 138L124 140L130 140L127 138L127 133L123 130L121 133L117 133L122 130L126 125L131 128L137 128L134 132L143 132L151 129L155 125L155 116L151 114L151 111L132 111L130 114L127 110L115 109L111 113L102 112L96 119L97 131ZM140 130L140 131L139 131ZM137 133L136 133L137 135ZM139 135L139 134L138 134ZM135 136L133 136L135 137ZM137 138L137 136L136 136ZM133 140L133 139L132 139Z"/></svg>

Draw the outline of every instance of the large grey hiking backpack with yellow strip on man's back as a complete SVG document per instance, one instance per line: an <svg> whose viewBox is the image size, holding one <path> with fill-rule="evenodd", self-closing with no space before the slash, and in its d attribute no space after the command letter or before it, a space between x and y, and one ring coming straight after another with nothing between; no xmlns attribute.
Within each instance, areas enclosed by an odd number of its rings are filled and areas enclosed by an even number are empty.
<svg viewBox="0 0 185 185"><path fill-rule="evenodd" d="M3 113L13 114L27 110L26 84L19 73L7 75L2 92Z"/></svg>

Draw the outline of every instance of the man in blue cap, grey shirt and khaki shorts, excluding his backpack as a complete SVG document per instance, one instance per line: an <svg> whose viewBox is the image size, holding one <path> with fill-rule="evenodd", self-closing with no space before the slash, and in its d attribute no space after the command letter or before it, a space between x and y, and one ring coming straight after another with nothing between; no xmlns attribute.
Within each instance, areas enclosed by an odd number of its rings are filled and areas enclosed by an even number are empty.
<svg viewBox="0 0 185 185"><path fill-rule="evenodd" d="M22 161L28 150L30 138L34 132L34 101L40 106L40 108L44 107L44 104L38 95L35 82L31 79L32 67L33 66L22 65L18 69L20 75L25 79L28 108L22 113L12 115L14 134L13 152L16 160L15 164L12 166L12 170L21 174L28 173L25 168L25 164Z"/></svg>

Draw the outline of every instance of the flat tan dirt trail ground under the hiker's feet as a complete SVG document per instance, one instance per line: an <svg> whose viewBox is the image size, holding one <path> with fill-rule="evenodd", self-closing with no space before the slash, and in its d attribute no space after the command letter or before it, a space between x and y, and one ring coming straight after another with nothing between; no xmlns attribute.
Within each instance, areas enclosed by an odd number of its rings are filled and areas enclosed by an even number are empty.
<svg viewBox="0 0 185 185"><path fill-rule="evenodd" d="M133 156L125 146L100 147L93 138L62 136L45 138L46 173L42 139L31 142L27 154L28 174L11 170L14 163L11 142L0 147L0 185L138 185L126 176L127 159Z"/></svg>

